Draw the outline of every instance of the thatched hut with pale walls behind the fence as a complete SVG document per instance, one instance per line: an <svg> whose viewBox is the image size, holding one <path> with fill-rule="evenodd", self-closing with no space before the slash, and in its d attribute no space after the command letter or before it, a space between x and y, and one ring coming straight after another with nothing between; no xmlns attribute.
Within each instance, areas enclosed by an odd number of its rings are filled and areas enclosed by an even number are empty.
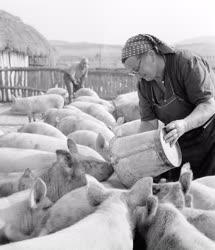
<svg viewBox="0 0 215 250"><path fill-rule="evenodd" d="M48 41L19 17L0 10L0 68L52 66Z"/></svg>

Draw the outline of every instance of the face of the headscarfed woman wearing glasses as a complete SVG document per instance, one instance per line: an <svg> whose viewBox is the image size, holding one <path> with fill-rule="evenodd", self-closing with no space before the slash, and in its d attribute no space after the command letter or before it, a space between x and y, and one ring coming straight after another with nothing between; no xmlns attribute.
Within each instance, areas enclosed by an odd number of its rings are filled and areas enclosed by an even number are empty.
<svg viewBox="0 0 215 250"><path fill-rule="evenodd" d="M138 78L152 81L157 75L156 55L154 51L149 51L139 58L131 56L125 61L125 67Z"/></svg>

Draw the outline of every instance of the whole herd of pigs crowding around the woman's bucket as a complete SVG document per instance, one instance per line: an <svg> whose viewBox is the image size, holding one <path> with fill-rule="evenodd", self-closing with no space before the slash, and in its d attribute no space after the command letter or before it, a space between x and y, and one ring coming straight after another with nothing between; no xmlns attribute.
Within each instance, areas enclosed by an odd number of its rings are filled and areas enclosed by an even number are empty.
<svg viewBox="0 0 215 250"><path fill-rule="evenodd" d="M137 93L67 98L13 97L29 123L0 132L0 250L215 249L214 176L119 181L111 140L139 132Z"/></svg>

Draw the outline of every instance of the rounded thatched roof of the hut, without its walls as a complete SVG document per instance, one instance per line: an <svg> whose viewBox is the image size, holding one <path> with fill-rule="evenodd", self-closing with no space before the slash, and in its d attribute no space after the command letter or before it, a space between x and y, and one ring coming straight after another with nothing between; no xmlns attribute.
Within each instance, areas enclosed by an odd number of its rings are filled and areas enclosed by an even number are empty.
<svg viewBox="0 0 215 250"><path fill-rule="evenodd" d="M19 17L0 10L0 51L14 51L30 56L49 56L52 47L33 27Z"/></svg>

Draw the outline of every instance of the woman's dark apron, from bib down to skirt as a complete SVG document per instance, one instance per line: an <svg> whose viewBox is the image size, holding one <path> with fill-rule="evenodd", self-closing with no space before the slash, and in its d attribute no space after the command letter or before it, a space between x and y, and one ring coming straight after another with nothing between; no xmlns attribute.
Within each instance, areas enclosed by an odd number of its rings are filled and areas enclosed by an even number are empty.
<svg viewBox="0 0 215 250"><path fill-rule="evenodd" d="M195 108L174 92L170 77L166 72L165 83L171 90L171 97L161 104L156 102L152 85L148 87L149 99L156 117L165 125L174 120L183 119ZM190 162L194 178L215 175L215 119L213 117L203 126L193 129L178 140L182 151L182 164ZM178 180L180 168L162 175L168 180Z"/></svg>

